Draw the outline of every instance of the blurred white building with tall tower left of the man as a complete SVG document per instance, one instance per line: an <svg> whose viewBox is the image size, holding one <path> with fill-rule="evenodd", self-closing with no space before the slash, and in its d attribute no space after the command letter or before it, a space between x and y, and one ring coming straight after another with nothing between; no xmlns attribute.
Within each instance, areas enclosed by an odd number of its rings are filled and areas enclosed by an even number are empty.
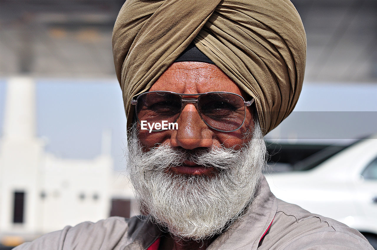
<svg viewBox="0 0 377 250"><path fill-rule="evenodd" d="M0 138L0 240L24 240L110 215L129 217L133 194L118 179L110 136L94 159L63 159L46 152L35 136L35 82L8 78L4 131Z"/></svg>

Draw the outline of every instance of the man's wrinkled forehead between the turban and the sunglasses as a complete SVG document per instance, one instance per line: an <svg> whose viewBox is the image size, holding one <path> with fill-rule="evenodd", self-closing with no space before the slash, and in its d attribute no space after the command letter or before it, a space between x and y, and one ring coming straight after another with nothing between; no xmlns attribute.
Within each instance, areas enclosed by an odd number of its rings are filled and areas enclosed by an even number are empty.
<svg viewBox="0 0 377 250"><path fill-rule="evenodd" d="M227 91L244 96L221 69L206 62L175 62L152 85L149 91L166 90L196 94L209 91ZM244 96L245 97L245 96Z"/></svg>

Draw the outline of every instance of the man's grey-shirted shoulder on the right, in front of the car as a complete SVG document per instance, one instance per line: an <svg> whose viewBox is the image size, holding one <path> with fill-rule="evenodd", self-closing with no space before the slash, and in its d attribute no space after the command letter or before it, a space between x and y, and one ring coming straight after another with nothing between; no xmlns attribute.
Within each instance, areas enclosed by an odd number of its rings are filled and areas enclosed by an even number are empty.
<svg viewBox="0 0 377 250"><path fill-rule="evenodd" d="M277 199L268 249L373 249L359 231ZM267 248L266 248L267 249Z"/></svg>

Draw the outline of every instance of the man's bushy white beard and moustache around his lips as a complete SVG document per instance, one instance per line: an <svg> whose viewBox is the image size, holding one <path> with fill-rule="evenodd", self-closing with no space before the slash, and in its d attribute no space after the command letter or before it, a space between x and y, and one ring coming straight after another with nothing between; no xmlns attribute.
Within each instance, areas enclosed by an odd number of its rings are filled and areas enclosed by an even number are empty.
<svg viewBox="0 0 377 250"><path fill-rule="evenodd" d="M259 123L240 150L186 150L160 145L143 152L136 126L129 139L128 174L141 207L172 235L200 240L219 234L237 220L254 197L265 166L266 146ZM190 160L213 166L215 176L167 171Z"/></svg>

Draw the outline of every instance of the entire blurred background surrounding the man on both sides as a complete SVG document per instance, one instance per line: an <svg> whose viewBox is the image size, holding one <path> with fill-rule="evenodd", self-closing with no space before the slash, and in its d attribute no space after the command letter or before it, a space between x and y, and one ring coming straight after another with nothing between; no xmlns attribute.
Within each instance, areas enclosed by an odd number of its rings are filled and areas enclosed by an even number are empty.
<svg viewBox="0 0 377 250"><path fill-rule="evenodd" d="M278 198L377 244L377 1L292 2L305 80L266 136L265 174ZM138 212L111 50L123 3L0 0L0 249Z"/></svg>

